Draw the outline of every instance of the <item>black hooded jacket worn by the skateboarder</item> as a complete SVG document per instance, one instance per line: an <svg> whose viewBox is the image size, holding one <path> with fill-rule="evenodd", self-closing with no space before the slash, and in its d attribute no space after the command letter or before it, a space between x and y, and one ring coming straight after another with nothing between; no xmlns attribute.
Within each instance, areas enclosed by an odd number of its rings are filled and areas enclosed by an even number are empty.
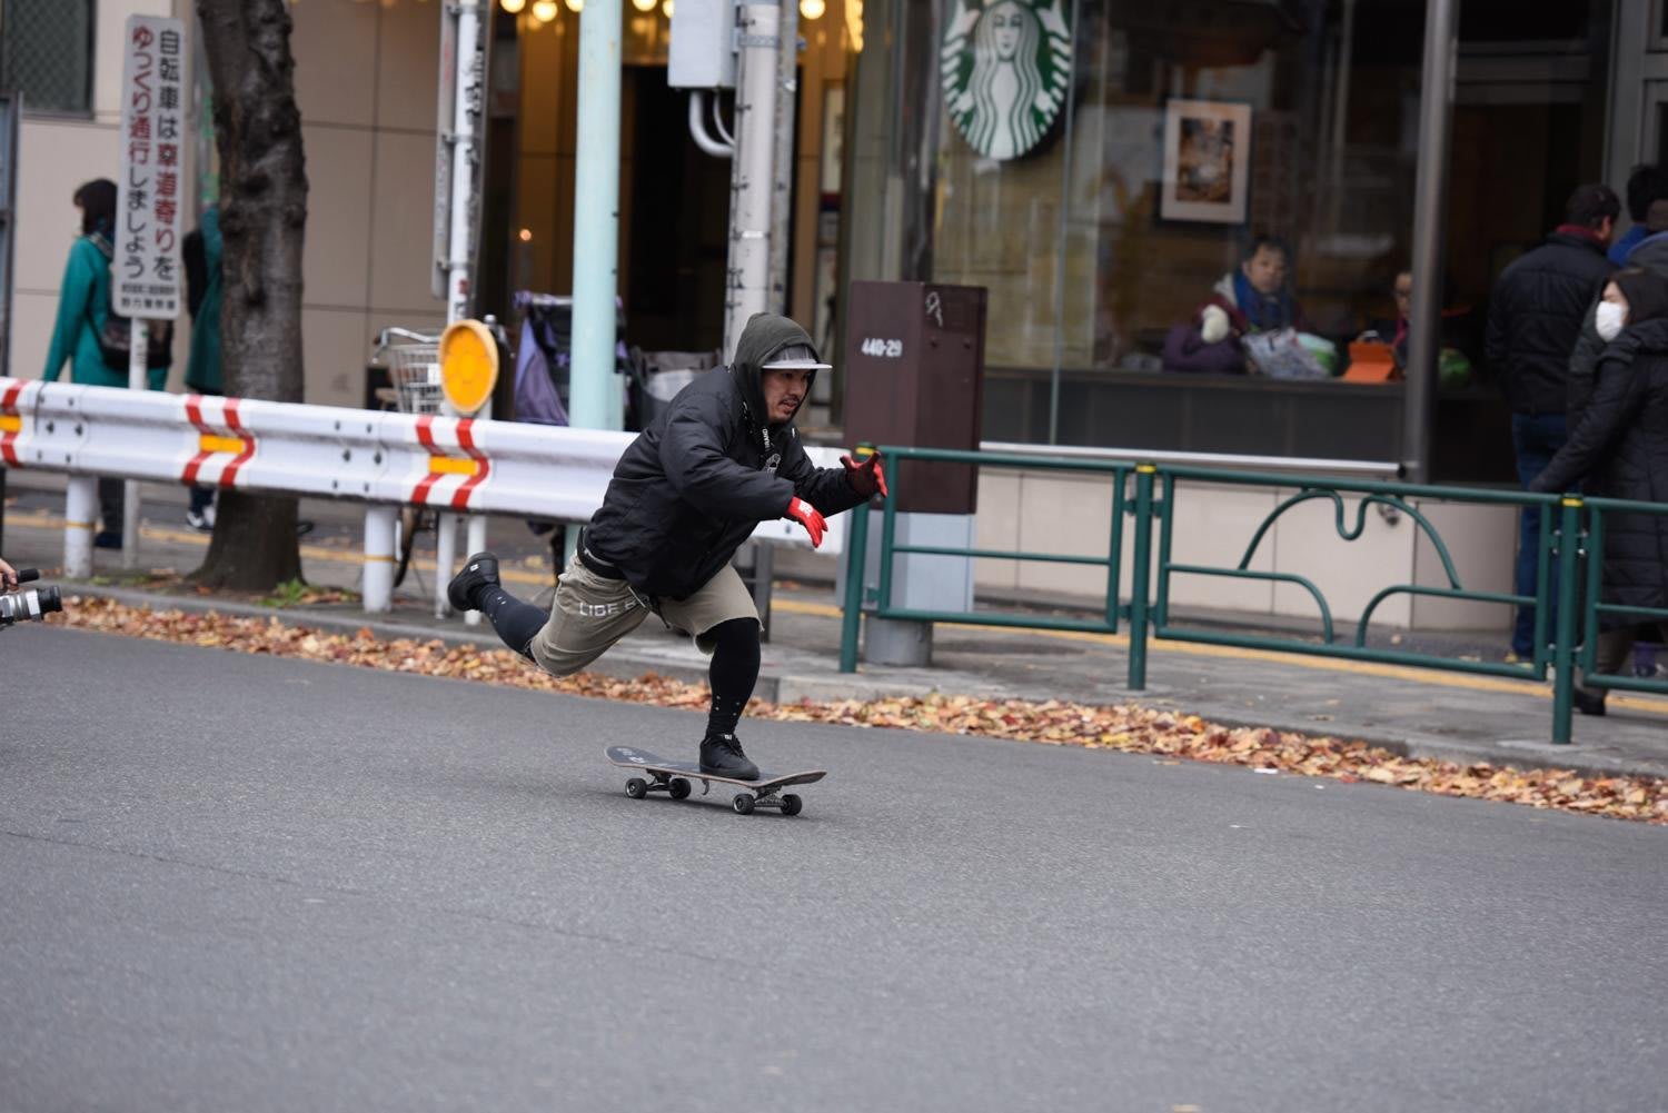
<svg viewBox="0 0 1668 1113"><path fill-rule="evenodd" d="M620 456L585 546L637 591L686 599L794 496L822 514L862 501L842 469L811 464L792 422L756 417L766 412L759 367L791 344L816 350L787 317L754 314L736 360L684 387Z"/></svg>

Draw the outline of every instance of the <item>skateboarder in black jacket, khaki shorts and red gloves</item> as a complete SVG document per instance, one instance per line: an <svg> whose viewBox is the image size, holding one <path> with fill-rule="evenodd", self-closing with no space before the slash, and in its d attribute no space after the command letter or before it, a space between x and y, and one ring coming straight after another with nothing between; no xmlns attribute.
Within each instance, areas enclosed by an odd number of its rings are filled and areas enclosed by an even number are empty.
<svg viewBox="0 0 1668 1113"><path fill-rule="evenodd" d="M759 679L759 611L731 557L777 517L819 546L824 514L886 494L879 454L819 469L799 446L794 414L829 369L797 324L754 314L734 362L689 384L620 456L549 614L504 591L490 552L452 577L452 606L482 611L504 644L555 676L600 657L652 611L712 656L701 769L756 779L736 723Z"/></svg>

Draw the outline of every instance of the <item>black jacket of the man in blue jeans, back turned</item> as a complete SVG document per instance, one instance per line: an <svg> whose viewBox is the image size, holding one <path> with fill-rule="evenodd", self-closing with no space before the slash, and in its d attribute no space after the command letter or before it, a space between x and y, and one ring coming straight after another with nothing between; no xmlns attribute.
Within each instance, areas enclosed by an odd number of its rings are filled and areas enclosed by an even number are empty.
<svg viewBox="0 0 1668 1113"><path fill-rule="evenodd" d="M1581 319L1613 267L1598 240L1553 232L1500 272L1488 307L1488 365L1518 414L1563 414Z"/></svg>

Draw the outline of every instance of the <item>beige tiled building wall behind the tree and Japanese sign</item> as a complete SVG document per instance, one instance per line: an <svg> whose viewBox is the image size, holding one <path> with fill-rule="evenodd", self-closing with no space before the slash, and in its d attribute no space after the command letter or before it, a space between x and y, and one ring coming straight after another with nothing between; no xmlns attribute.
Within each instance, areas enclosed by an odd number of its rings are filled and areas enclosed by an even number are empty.
<svg viewBox="0 0 1668 1113"><path fill-rule="evenodd" d="M305 0L292 12L310 182L302 294L307 400L360 405L375 332L445 319L444 304L429 292L440 12L429 0ZM22 377L40 375L52 339L77 229L70 195L88 179L117 174L120 33L132 13L190 23L192 3L102 0L93 117L23 118L12 344L12 369ZM195 165L188 174L195 180ZM187 227L193 224L190 217ZM170 389L180 389L185 374L187 324L182 319L175 330Z"/></svg>

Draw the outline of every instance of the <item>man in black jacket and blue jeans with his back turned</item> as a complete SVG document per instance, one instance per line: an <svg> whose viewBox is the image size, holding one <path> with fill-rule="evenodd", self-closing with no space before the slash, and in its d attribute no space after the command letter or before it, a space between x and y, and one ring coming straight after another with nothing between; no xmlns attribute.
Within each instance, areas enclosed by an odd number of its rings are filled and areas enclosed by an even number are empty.
<svg viewBox="0 0 1668 1113"><path fill-rule="evenodd" d="M1488 365L1501 375L1511 405L1511 442L1525 489L1568 437L1570 357L1588 307L1613 267L1605 249L1621 215L1608 185L1581 185L1570 195L1565 222L1546 240L1500 274L1488 309ZM1541 551L1541 514L1523 511L1513 591L1535 594ZM1546 616L1553 629L1556 614ZM1511 651L1535 654L1535 607L1518 609Z"/></svg>

